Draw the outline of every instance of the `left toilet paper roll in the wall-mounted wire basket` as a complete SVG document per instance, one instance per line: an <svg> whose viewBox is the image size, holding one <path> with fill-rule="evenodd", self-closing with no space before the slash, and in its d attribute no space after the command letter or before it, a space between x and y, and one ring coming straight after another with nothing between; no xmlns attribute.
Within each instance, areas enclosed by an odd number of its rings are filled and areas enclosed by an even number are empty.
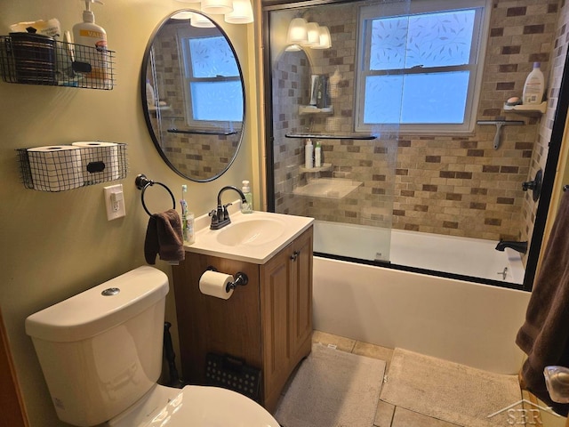
<svg viewBox="0 0 569 427"><path fill-rule="evenodd" d="M49 145L28 149L34 189L63 191L84 184L80 149L72 145Z"/></svg>

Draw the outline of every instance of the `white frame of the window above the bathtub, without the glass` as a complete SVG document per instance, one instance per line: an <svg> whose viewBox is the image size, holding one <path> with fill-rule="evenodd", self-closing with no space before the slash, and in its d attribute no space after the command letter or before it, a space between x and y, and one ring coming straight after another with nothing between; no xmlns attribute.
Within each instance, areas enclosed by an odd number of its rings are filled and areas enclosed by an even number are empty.
<svg viewBox="0 0 569 427"><path fill-rule="evenodd" d="M488 31L490 27L491 0L457 0L452 2L445 0L411 0L405 10L397 4L381 4L361 6L358 11L357 29L357 64L356 85L354 87L354 130L356 132L375 132L378 128L386 129L397 126L398 133L472 133L476 125L477 107L482 90L482 77L484 71L484 58ZM385 71L370 70L370 39L371 24L373 19L408 16L429 12L452 12L461 10L476 10L475 25L471 41L469 64L464 66L432 67L432 68L399 68ZM364 102L365 83L368 76L385 75L413 75L425 74L425 72L452 72L454 70L468 69L470 72L467 97L465 102L464 121L461 124L426 123L426 124L365 124ZM402 93L403 97L403 93Z"/></svg>

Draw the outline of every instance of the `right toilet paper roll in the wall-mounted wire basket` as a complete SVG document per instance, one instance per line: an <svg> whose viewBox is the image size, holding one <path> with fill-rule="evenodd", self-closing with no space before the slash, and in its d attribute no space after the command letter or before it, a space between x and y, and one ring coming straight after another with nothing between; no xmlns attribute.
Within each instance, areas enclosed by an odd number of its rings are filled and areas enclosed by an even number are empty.
<svg viewBox="0 0 569 427"><path fill-rule="evenodd" d="M81 149L83 163L83 179L87 184L115 181L120 178L118 164L118 144L115 142L77 141L71 145ZM95 165L98 163L99 165ZM91 164L91 166L90 166ZM93 172L95 168L104 165L102 171Z"/></svg>

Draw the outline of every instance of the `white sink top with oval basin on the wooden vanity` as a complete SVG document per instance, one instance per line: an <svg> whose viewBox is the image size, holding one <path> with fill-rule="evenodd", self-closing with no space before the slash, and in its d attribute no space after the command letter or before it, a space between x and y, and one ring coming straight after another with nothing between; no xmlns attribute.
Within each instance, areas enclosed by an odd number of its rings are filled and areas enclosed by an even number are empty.
<svg viewBox="0 0 569 427"><path fill-rule="evenodd" d="M220 230L210 230L207 214L196 218L196 242L186 244L185 250L264 264L314 222L313 218L269 212L242 214L239 206L238 200L228 206L231 223Z"/></svg>

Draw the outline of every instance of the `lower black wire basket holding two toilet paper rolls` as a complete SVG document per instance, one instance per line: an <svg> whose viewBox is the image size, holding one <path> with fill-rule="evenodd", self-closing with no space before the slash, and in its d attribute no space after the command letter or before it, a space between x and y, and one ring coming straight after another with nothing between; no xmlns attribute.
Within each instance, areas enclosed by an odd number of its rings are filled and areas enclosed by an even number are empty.
<svg viewBox="0 0 569 427"><path fill-rule="evenodd" d="M65 191L126 178L126 144L92 142L16 149L21 181L27 189Z"/></svg>

